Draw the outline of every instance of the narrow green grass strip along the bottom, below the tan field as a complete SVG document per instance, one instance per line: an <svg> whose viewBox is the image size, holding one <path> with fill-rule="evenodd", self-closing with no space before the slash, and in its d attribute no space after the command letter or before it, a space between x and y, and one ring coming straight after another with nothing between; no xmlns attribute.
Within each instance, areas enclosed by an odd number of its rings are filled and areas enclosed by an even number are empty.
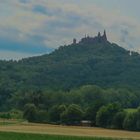
<svg viewBox="0 0 140 140"><path fill-rule="evenodd" d="M0 140L122 140L122 139L0 132Z"/></svg>

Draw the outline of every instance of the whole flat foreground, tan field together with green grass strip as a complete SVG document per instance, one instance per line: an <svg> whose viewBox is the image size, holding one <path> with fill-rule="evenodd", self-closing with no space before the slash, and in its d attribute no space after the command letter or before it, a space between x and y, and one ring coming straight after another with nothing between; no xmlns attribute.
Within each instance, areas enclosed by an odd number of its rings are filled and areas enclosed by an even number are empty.
<svg viewBox="0 0 140 140"><path fill-rule="evenodd" d="M6 133L7 132L7 133ZM14 133L11 133L14 132ZM15 133L16 132L16 133ZM20 134L24 133L24 134ZM34 135L38 134L38 135ZM46 135L47 134L47 135ZM49 135L48 135L49 134ZM50 136L51 135L51 136ZM52 136L53 135L53 136ZM62 136L55 136L62 135ZM80 136L73 137L73 136ZM85 138L89 137L89 138ZM93 138L101 137L101 138ZM10 139L9 139L10 138ZM108 138L140 139L140 132L109 130L103 128L57 126L31 123L0 124L0 140L108 140Z"/></svg>

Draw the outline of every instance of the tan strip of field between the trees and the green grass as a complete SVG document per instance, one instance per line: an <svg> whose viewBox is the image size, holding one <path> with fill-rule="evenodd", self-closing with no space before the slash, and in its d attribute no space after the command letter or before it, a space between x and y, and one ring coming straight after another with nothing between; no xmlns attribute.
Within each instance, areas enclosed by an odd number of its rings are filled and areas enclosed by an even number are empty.
<svg viewBox="0 0 140 140"><path fill-rule="evenodd" d="M57 126L48 124L32 123L5 123L0 124L2 132L18 132L31 134L49 134L63 136L84 136L84 137L106 137L106 138L130 138L140 139L140 132L129 132L121 130L109 130L103 128L74 127L74 126ZM4 134L4 133L2 133ZM8 133L11 134L12 133ZM2 135L0 135L2 136ZM2 139L2 138L0 138ZM8 139L4 139L8 140ZM22 140L22 139L21 139ZM27 139L26 139L27 140ZM39 140L39 139L38 139ZM53 139L52 139L53 140Z"/></svg>

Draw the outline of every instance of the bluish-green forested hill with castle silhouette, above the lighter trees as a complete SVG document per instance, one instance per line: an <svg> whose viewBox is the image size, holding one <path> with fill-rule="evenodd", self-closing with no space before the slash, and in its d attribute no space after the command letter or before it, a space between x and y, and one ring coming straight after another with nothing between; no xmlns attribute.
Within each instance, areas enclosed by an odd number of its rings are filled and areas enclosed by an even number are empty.
<svg viewBox="0 0 140 140"><path fill-rule="evenodd" d="M140 88L140 55L110 43L106 33L76 39L43 56L0 61L0 87L9 90L82 85Z"/></svg>

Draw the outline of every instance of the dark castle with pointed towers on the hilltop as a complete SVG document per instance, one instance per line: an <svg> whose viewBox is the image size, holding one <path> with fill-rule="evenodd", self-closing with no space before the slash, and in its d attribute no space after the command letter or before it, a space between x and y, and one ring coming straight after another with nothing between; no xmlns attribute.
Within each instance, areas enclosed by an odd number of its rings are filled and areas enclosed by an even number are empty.
<svg viewBox="0 0 140 140"><path fill-rule="evenodd" d="M101 35L101 33L99 32L97 36L95 37L90 37L90 36L86 36L84 38L82 38L79 43L80 44L93 44L93 43L106 43L107 40L107 35L106 35L106 31L104 30L103 35ZM73 44L76 44L76 39L73 39Z"/></svg>

